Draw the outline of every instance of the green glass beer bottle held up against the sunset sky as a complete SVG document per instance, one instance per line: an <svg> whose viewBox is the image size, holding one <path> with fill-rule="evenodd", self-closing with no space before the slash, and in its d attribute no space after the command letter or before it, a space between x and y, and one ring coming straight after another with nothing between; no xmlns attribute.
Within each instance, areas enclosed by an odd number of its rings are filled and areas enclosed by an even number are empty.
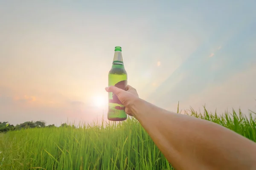
<svg viewBox="0 0 256 170"><path fill-rule="evenodd" d="M122 48L115 47L112 68L108 73L108 86L116 86L127 90L127 73L122 59ZM108 120L122 121L127 119L125 107L115 94L108 93Z"/></svg>

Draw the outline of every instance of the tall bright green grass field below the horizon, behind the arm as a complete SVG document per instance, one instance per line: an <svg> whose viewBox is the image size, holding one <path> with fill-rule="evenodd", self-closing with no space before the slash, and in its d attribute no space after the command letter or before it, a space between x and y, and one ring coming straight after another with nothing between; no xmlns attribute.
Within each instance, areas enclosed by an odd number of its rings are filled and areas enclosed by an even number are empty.
<svg viewBox="0 0 256 170"><path fill-rule="evenodd" d="M256 119L241 111L222 116L195 113L256 142ZM171 170L173 169L135 119L122 124L46 127L0 134L0 170Z"/></svg>

